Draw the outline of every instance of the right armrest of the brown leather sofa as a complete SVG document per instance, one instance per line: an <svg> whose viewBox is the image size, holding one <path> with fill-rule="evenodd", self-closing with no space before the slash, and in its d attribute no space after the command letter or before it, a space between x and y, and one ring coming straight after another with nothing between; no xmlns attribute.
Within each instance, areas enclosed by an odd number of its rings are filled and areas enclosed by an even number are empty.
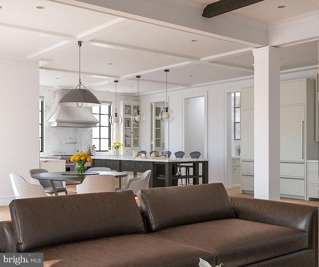
<svg viewBox="0 0 319 267"><path fill-rule="evenodd" d="M230 197L237 219L304 230L318 262L318 207L244 197Z"/></svg>

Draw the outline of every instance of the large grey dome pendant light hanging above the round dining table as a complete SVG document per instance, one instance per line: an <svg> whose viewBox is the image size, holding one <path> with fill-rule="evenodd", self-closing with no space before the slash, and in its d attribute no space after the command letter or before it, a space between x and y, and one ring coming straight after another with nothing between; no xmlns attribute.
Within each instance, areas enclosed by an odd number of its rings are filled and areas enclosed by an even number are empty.
<svg viewBox="0 0 319 267"><path fill-rule="evenodd" d="M92 92L86 90L86 87L81 83L81 45L82 41L78 41L79 46L79 85L75 89L69 90L59 101L62 106L78 106L93 107L101 105L100 101L93 95ZM81 86L84 89L81 89Z"/></svg>

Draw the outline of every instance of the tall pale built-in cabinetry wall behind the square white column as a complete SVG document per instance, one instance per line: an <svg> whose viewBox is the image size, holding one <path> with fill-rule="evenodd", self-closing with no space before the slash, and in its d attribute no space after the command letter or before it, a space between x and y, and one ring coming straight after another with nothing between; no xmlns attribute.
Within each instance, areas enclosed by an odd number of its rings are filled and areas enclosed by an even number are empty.
<svg viewBox="0 0 319 267"><path fill-rule="evenodd" d="M318 159L315 142L315 81L280 86L280 193L307 198L306 160ZM241 94L241 192L254 191L254 88Z"/></svg>

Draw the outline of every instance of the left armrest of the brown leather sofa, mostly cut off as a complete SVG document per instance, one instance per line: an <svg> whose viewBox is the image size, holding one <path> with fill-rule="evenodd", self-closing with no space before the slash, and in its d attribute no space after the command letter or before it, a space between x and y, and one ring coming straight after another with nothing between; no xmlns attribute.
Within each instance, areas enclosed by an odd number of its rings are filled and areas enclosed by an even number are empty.
<svg viewBox="0 0 319 267"><path fill-rule="evenodd" d="M11 221L0 221L0 252L16 252Z"/></svg>

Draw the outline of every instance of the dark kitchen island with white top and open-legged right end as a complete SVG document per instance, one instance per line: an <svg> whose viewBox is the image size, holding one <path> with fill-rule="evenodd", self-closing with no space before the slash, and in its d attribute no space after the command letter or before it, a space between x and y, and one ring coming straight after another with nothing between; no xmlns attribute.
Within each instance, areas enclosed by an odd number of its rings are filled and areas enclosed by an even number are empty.
<svg viewBox="0 0 319 267"><path fill-rule="evenodd" d="M178 179L192 178L193 184L208 183L208 159L202 158L165 158L165 157L130 157L130 156L92 156L93 167L109 167L116 171L137 172L152 170L149 187L177 185ZM177 164L190 164L193 173L176 175ZM201 173L200 173L201 165Z"/></svg>

